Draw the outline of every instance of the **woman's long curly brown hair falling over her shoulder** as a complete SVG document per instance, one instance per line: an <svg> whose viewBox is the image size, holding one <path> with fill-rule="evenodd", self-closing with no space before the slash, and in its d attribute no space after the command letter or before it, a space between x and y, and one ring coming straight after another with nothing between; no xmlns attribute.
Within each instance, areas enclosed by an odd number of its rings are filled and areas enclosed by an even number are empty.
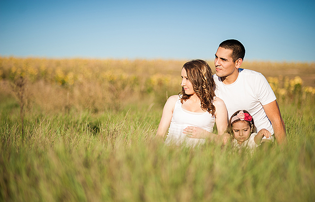
<svg viewBox="0 0 315 202"><path fill-rule="evenodd" d="M203 60L192 60L186 62L183 66L187 72L187 77L192 84L192 88L201 102L201 109L215 114L216 108L213 105L215 97L215 82L212 78L212 72L207 62ZM186 94L184 87L178 93L181 96L181 103L188 100L191 94Z"/></svg>

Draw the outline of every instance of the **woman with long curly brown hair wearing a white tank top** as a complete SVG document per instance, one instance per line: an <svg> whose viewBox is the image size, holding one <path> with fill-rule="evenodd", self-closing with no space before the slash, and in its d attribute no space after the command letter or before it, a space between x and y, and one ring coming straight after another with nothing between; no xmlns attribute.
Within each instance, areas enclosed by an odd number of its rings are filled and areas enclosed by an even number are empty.
<svg viewBox="0 0 315 202"><path fill-rule="evenodd" d="M227 110L224 102L215 97L215 83L209 65L203 60L186 62L182 68L182 91L166 101L156 137L165 144L194 147L214 140L216 123L218 134L227 127ZM203 132L201 132L201 129Z"/></svg>

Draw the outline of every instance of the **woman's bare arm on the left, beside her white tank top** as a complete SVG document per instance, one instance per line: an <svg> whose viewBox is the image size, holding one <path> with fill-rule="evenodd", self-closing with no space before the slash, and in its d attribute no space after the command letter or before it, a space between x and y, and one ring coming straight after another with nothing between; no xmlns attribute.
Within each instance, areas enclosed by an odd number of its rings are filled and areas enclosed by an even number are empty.
<svg viewBox="0 0 315 202"><path fill-rule="evenodd" d="M173 117L173 110L174 110L174 106L177 99L178 99L178 95L173 95L169 97L169 99L167 99L163 108L161 121L158 124L156 138L164 139L165 134L167 133L167 130L169 129L170 124L171 124L171 120Z"/></svg>

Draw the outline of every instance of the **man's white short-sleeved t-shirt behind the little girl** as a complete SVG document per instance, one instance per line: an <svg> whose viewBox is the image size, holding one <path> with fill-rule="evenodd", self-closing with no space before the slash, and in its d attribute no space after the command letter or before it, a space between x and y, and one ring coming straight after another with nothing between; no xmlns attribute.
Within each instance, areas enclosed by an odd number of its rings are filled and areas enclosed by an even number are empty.
<svg viewBox="0 0 315 202"><path fill-rule="evenodd" d="M245 109L252 115L257 132L266 128L271 134L274 133L263 105L276 100L276 96L261 73L239 68L236 81L229 85L224 84L217 75L213 75L213 78L216 96L224 101L229 119L237 110Z"/></svg>

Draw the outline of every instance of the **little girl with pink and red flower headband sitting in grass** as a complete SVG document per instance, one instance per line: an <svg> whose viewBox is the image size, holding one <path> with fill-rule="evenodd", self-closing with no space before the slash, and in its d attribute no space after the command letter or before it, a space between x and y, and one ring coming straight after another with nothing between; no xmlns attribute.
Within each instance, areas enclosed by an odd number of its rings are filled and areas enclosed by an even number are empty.
<svg viewBox="0 0 315 202"><path fill-rule="evenodd" d="M271 133L263 128L255 133L254 120L246 110L236 111L230 118L227 133L232 137L232 146L236 149L248 148L253 151L261 143L265 136L269 138Z"/></svg>

